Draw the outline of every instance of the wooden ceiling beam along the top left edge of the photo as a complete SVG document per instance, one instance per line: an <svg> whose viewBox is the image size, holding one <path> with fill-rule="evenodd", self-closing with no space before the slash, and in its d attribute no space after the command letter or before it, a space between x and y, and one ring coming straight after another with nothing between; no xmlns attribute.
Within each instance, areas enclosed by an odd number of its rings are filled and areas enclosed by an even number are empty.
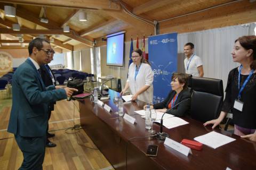
<svg viewBox="0 0 256 170"><path fill-rule="evenodd" d="M106 0L1 0L0 2L39 6L57 6L69 8L95 8L106 10L120 10L121 6L115 2Z"/></svg>

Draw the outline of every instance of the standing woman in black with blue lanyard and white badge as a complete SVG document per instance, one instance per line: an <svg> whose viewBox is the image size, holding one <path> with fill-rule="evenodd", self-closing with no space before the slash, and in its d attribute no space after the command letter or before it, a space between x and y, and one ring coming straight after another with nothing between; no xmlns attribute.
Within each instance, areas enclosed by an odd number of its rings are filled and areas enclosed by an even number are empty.
<svg viewBox="0 0 256 170"><path fill-rule="evenodd" d="M228 75L226 98L219 118L205 122L215 128L231 110L236 135L256 141L256 36L243 36L235 41L233 61L241 65Z"/></svg>

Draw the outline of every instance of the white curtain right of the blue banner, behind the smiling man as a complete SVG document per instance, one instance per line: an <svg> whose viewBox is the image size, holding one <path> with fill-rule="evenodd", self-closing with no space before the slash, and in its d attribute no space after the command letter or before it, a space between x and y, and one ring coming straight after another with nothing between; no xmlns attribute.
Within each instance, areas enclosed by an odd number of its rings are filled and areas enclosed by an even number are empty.
<svg viewBox="0 0 256 170"><path fill-rule="evenodd" d="M186 43L195 45L195 54L201 57L204 77L222 79L226 89L228 73L238 66L231 57L231 50L238 37L254 35L255 23L178 34L178 71L185 72L183 47ZM150 60L150 58L149 58Z"/></svg>

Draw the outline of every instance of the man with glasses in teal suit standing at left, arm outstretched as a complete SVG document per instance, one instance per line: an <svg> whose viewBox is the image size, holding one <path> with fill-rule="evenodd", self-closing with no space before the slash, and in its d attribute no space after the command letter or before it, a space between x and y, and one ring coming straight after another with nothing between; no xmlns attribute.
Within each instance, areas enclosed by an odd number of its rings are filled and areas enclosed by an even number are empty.
<svg viewBox="0 0 256 170"><path fill-rule="evenodd" d="M36 38L29 43L28 51L29 58L13 74L12 110L7 131L14 134L23 153L19 169L43 169L48 105L77 90L44 86L39 65L47 63L51 51L49 41Z"/></svg>

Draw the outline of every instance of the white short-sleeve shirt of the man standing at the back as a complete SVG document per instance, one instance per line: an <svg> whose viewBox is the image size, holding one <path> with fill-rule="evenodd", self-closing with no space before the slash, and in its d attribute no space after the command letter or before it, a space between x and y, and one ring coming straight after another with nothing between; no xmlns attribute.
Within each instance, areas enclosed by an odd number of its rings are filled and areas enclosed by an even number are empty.
<svg viewBox="0 0 256 170"><path fill-rule="evenodd" d="M185 58L184 60L185 71L187 74L193 75L193 77L199 77L199 72L197 70L197 67L203 65L203 62L200 57L198 57L197 55L194 55L194 56L193 55L189 59L187 57Z"/></svg>

